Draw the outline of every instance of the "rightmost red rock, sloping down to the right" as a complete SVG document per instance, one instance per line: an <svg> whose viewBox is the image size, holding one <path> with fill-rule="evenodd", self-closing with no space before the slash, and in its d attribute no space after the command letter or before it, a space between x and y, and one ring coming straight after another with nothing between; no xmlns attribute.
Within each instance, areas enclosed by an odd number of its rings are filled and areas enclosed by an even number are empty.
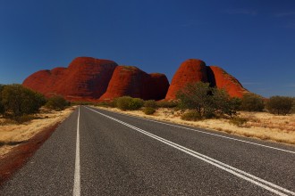
<svg viewBox="0 0 295 196"><path fill-rule="evenodd" d="M213 73L213 80L210 82L217 88L223 88L231 97L242 97L243 94L249 93L243 86L241 86L238 79L232 77L222 68L217 66L209 66L209 70Z"/></svg>

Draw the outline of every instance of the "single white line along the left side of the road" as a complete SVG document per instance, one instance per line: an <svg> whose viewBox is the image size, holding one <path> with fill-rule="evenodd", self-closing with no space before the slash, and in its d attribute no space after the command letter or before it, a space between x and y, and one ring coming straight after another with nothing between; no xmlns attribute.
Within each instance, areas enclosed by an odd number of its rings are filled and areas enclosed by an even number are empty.
<svg viewBox="0 0 295 196"><path fill-rule="evenodd" d="M74 186L72 190L73 196L80 196L80 106L78 110L79 111L78 111L78 119L77 119L75 175L74 175Z"/></svg>

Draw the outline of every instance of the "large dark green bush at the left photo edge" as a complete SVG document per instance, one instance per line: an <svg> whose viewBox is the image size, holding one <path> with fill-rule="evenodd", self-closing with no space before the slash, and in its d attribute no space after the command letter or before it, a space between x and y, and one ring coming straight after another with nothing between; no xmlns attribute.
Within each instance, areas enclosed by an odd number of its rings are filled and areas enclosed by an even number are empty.
<svg viewBox="0 0 295 196"><path fill-rule="evenodd" d="M42 94L21 85L4 86L1 96L4 113L12 118L37 113L46 102Z"/></svg>

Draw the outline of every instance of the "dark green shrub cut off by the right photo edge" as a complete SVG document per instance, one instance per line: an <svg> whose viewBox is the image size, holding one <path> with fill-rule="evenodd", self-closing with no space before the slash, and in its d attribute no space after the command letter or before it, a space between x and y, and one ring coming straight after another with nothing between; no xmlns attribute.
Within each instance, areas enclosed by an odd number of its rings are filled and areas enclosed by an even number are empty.
<svg viewBox="0 0 295 196"><path fill-rule="evenodd" d="M265 104L266 109L273 114L290 114L293 107L293 99L287 96L272 96Z"/></svg>

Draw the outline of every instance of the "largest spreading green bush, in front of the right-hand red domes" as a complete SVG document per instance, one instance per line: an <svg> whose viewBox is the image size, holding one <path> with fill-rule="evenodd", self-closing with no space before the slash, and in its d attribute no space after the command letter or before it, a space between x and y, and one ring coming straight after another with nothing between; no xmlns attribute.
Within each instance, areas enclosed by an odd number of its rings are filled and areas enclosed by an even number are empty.
<svg viewBox="0 0 295 196"><path fill-rule="evenodd" d="M229 94L211 87L209 83L190 83L184 86L176 97L180 100L181 109L195 110L199 117L233 116L236 113Z"/></svg>

